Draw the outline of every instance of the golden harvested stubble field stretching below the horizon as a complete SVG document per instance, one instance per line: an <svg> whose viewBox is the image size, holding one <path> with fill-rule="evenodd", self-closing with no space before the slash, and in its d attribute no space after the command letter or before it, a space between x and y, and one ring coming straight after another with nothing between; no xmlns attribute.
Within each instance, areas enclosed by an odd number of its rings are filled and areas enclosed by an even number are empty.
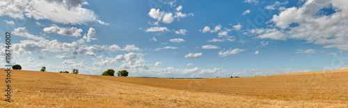
<svg viewBox="0 0 348 108"><path fill-rule="evenodd" d="M0 69L1 107L348 107L348 69L250 78L120 78Z"/></svg>

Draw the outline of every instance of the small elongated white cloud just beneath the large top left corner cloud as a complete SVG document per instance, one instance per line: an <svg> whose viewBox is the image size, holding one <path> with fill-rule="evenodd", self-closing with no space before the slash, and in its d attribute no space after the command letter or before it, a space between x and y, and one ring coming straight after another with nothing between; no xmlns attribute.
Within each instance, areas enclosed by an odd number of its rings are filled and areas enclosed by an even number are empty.
<svg viewBox="0 0 348 108"><path fill-rule="evenodd" d="M43 28L43 32L45 33L57 33L59 35L70 35L72 37L79 37L81 36L81 32L83 31L81 28L61 28L56 25L53 25L51 27Z"/></svg>

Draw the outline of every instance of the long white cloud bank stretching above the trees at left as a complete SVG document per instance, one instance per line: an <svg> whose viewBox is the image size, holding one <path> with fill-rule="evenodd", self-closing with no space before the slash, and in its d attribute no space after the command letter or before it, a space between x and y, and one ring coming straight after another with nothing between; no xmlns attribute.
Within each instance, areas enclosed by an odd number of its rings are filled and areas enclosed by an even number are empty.
<svg viewBox="0 0 348 108"><path fill-rule="evenodd" d="M58 42L57 39L47 40L43 37L38 37L35 35L31 35L26 33L24 28L16 28L13 31L14 35L19 35L22 37L29 38L28 40L22 40L18 44L13 44L13 52L16 55L23 55L26 53L48 53L53 54L57 52L70 52L70 57L57 56L58 58L75 58L77 56L83 55L91 55L95 56L95 52L104 52L104 51L141 51L140 48L135 45L127 45L125 48L120 48L118 45L111 46L100 46L100 45L87 45L87 44L78 44L77 42L66 43L66 42ZM93 33L90 33L90 35ZM33 41L30 39L36 39L38 41Z"/></svg>

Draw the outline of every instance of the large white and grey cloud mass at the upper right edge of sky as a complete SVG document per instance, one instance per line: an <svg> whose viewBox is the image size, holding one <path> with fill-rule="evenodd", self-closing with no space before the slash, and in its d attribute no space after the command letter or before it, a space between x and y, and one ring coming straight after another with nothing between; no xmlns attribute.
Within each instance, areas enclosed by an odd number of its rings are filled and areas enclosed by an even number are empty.
<svg viewBox="0 0 348 108"><path fill-rule="evenodd" d="M274 15L269 21L274 28L267 30L258 38L303 39L308 43L321 44L324 48L348 50L348 2L306 1L299 7L292 7ZM333 13L323 14L322 9L333 9ZM318 23L320 22L320 23ZM295 26L290 26L290 25Z"/></svg>

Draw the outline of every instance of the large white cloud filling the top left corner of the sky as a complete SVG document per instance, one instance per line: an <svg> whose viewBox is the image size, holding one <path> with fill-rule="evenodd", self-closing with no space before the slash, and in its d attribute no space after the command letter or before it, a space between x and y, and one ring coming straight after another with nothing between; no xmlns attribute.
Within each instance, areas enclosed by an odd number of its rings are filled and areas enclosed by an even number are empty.
<svg viewBox="0 0 348 108"><path fill-rule="evenodd" d="M37 20L48 19L61 24L85 24L90 21L102 22L97 19L97 15L95 15L93 10L82 8L84 4L88 3L84 0L1 1L0 16L8 15L13 18L24 19L25 15Z"/></svg>

